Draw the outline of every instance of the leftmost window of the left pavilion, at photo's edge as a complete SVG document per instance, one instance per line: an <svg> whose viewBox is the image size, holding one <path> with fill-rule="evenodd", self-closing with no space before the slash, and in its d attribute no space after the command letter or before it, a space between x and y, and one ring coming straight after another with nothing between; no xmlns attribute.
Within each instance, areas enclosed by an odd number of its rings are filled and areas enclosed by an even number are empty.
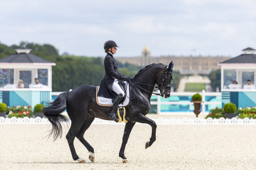
<svg viewBox="0 0 256 170"><path fill-rule="evenodd" d="M0 87L13 84L13 69L0 69Z"/></svg>

